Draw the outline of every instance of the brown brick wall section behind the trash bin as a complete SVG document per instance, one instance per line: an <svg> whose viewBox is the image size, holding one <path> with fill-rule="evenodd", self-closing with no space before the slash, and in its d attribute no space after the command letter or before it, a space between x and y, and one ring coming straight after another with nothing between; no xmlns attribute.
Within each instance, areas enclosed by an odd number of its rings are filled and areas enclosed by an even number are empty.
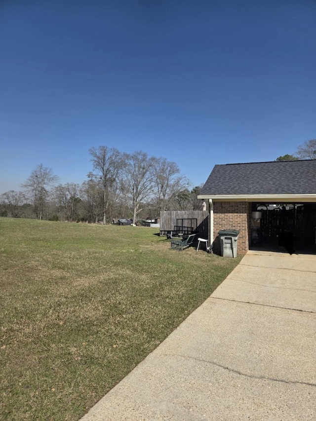
<svg viewBox="0 0 316 421"><path fill-rule="evenodd" d="M249 220L251 203L249 202L213 202L214 211L214 245L213 251L221 253L219 230L239 230L237 254L245 254L249 250Z"/></svg>

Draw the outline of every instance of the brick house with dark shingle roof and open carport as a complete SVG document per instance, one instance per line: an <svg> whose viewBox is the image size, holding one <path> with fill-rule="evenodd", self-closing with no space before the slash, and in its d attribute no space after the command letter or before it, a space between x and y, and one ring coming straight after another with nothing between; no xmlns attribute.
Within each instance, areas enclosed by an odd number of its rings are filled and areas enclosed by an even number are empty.
<svg viewBox="0 0 316 421"><path fill-rule="evenodd" d="M219 230L239 230L237 253L276 250L282 233L315 252L316 160L215 165L199 199L208 202L209 243L220 252Z"/></svg>

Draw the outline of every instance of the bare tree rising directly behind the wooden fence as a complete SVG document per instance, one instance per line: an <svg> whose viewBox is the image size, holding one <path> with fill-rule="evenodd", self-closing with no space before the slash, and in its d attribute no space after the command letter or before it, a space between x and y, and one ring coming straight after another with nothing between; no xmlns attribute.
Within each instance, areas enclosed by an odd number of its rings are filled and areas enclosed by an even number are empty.
<svg viewBox="0 0 316 421"><path fill-rule="evenodd" d="M159 210L165 211L179 191L189 186L189 180L179 175L180 170L175 162L166 158L154 158L153 175L158 194Z"/></svg>

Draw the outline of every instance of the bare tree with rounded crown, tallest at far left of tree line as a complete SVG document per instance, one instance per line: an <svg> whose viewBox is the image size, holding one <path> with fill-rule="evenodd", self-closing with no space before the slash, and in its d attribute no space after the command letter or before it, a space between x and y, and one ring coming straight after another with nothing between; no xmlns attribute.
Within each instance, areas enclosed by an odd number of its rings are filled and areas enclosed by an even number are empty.
<svg viewBox="0 0 316 421"><path fill-rule="evenodd" d="M29 197L33 201L33 206L37 219L43 218L44 206L48 197L48 188L52 186L58 177L53 174L51 168L40 164L31 172L30 177L21 186L26 189Z"/></svg>

